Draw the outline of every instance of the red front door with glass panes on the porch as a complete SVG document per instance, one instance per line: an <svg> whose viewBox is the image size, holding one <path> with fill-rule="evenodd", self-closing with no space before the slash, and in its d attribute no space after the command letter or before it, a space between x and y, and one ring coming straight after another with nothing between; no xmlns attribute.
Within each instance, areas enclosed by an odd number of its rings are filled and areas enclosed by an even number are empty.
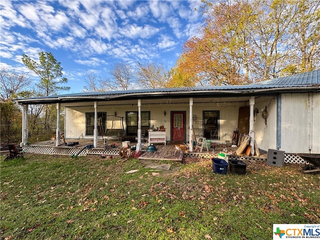
<svg viewBox="0 0 320 240"><path fill-rule="evenodd" d="M185 111L171 111L171 140L185 140Z"/></svg>

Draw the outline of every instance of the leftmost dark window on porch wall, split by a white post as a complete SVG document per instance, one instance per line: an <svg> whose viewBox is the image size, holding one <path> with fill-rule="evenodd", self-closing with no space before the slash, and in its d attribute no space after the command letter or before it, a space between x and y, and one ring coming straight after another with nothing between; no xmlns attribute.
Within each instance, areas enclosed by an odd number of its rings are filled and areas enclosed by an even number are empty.
<svg viewBox="0 0 320 240"><path fill-rule="evenodd" d="M98 134L103 134L106 130L106 112L97 112L97 129ZM94 129L94 112L85 112L85 135L93 136Z"/></svg>

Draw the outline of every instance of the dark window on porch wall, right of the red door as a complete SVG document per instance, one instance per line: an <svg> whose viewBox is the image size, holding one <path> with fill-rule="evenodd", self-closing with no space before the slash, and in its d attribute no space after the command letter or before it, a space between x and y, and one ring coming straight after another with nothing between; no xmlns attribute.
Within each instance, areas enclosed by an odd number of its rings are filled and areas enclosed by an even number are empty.
<svg viewBox="0 0 320 240"><path fill-rule="evenodd" d="M203 111L203 137L219 139L219 111Z"/></svg>

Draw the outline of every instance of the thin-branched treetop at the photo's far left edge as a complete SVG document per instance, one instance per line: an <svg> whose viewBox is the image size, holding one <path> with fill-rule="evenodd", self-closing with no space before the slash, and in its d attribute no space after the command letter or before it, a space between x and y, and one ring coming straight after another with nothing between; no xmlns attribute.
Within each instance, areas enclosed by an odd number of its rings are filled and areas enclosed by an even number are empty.
<svg viewBox="0 0 320 240"><path fill-rule="evenodd" d="M19 92L26 89L30 82L26 74L2 67L0 69L0 100L13 99Z"/></svg>

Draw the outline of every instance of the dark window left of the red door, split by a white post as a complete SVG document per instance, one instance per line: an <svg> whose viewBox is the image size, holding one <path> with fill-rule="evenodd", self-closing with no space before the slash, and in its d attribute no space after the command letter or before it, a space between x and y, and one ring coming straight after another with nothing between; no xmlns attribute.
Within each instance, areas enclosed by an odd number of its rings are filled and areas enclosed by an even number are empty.
<svg viewBox="0 0 320 240"><path fill-rule="evenodd" d="M125 113L126 135L136 136L138 131L138 112L127 111ZM150 128L150 112L141 111L141 130L147 132Z"/></svg>

